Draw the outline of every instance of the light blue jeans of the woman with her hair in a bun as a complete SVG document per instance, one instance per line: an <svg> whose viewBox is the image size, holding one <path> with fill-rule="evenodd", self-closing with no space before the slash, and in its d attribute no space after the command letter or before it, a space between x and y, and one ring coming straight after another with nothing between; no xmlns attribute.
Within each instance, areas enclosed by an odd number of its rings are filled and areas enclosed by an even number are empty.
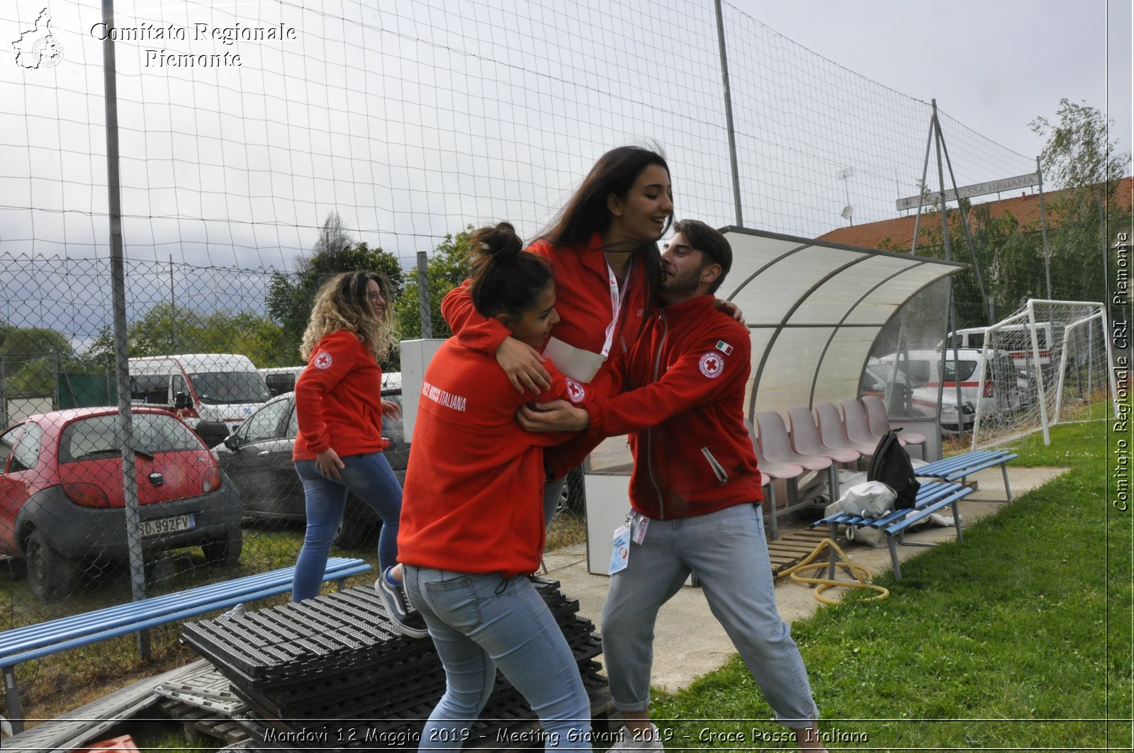
<svg viewBox="0 0 1134 753"><path fill-rule="evenodd" d="M591 702L578 665L526 577L407 565L406 594L425 618L446 678L417 750L462 748L492 694L497 666L540 717L547 750L591 750Z"/></svg>

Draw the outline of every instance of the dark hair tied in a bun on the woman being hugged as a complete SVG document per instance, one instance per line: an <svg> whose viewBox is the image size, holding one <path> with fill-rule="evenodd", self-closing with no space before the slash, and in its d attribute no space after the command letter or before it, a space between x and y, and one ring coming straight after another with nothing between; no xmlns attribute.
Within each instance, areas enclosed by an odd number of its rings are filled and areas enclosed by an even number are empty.
<svg viewBox="0 0 1134 753"><path fill-rule="evenodd" d="M508 222L480 228L468 238L473 306L482 316L521 315L552 280L551 264L524 251Z"/></svg>

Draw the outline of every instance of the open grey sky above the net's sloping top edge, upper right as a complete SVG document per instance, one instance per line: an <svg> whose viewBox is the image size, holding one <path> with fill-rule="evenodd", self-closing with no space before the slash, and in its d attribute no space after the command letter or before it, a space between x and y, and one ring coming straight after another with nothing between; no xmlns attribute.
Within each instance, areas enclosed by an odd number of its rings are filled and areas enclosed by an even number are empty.
<svg viewBox="0 0 1134 753"><path fill-rule="evenodd" d="M930 101L1014 151L1038 155L1029 122L1059 100L1114 119L1129 152L1129 0L733 0L838 65ZM949 134L946 134L948 138Z"/></svg>

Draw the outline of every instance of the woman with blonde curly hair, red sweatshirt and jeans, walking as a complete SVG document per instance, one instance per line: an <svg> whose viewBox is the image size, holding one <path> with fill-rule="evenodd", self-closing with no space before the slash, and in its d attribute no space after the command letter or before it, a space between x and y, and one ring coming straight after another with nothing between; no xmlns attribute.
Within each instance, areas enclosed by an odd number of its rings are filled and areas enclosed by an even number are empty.
<svg viewBox="0 0 1134 753"><path fill-rule="evenodd" d="M295 383L299 434L291 459L303 480L307 532L295 565L291 600L319 594L331 540L342 518L347 492L382 518L378 560L379 593L395 627L425 637L424 620L407 608L400 575L398 528L401 485L382 450L382 367L393 327L390 288L375 272L337 274L315 295L301 355L307 359ZM396 569L395 569L396 568Z"/></svg>

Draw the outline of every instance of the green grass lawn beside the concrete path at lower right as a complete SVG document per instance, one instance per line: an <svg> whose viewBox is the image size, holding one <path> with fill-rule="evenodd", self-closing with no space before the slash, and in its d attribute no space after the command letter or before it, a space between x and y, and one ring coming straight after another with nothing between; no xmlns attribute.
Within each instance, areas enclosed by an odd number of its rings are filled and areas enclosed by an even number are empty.
<svg viewBox="0 0 1134 753"><path fill-rule="evenodd" d="M829 747L1131 750L1132 526L1108 504L1106 431L1021 440L1014 464L1070 472L881 577L888 600L856 592L793 624ZM784 729L737 658L654 697L655 720L684 720L662 722L671 750Z"/></svg>

